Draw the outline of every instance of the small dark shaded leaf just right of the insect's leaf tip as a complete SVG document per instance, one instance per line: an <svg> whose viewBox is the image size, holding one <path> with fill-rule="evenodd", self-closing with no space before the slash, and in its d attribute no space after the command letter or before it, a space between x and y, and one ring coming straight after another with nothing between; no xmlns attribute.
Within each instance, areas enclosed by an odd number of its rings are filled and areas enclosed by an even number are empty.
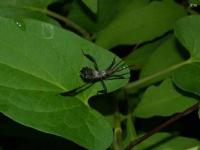
<svg viewBox="0 0 200 150"><path fill-rule="evenodd" d="M161 40L157 40L152 43L148 43L130 53L123 60L128 65L135 65L137 69L143 68L144 65L148 62L150 56L154 53L154 51L164 42L166 38Z"/></svg>

